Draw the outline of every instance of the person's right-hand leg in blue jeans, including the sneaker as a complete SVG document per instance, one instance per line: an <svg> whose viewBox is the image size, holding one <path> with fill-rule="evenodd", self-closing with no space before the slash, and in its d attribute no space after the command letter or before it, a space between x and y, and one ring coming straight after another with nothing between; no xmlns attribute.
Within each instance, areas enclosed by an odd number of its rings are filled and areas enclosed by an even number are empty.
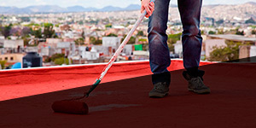
<svg viewBox="0 0 256 128"><path fill-rule="evenodd" d="M183 77L188 80L188 89L198 94L210 93L211 90L203 83L204 71L198 70L201 59L201 3L202 0L177 0L178 9L183 23L183 65L187 71Z"/></svg>

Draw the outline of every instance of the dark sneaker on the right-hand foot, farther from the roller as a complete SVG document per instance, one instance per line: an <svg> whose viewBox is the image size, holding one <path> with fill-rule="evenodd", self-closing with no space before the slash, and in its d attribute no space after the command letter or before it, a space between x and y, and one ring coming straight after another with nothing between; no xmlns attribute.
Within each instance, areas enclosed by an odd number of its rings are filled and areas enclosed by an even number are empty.
<svg viewBox="0 0 256 128"><path fill-rule="evenodd" d="M197 94L208 94L211 90L207 85L204 84L202 76L192 77L187 72L183 72L183 77L188 80L188 90L193 91Z"/></svg>

